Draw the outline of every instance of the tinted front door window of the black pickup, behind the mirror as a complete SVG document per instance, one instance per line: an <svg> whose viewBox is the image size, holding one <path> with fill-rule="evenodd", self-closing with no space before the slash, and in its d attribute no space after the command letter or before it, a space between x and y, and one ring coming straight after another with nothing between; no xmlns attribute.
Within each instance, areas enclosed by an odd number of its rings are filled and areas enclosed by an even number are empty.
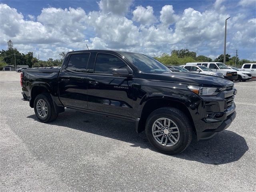
<svg viewBox="0 0 256 192"><path fill-rule="evenodd" d="M126 64L118 57L111 54L97 54L94 73L112 74L112 69L126 68Z"/></svg>

